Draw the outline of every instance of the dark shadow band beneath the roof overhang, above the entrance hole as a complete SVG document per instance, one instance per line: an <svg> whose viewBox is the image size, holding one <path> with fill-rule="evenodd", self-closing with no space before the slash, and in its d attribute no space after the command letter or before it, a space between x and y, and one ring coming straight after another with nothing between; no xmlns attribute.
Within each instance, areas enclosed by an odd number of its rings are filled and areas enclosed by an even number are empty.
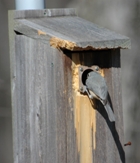
<svg viewBox="0 0 140 163"><path fill-rule="evenodd" d="M72 55L79 55L80 64L84 66L98 65L100 68L104 69L108 69L111 67L120 67L120 49L88 51L69 51L63 49L62 51L71 60ZM72 61L75 62L74 60Z"/></svg>

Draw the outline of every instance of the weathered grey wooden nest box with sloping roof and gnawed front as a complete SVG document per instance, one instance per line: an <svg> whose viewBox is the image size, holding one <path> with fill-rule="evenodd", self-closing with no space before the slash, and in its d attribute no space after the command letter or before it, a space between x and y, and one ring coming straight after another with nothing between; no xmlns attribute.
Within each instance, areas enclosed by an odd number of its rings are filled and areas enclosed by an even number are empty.
<svg viewBox="0 0 140 163"><path fill-rule="evenodd" d="M124 163L120 49L129 38L74 9L9 12L14 163ZM80 92L99 66L116 121Z"/></svg>

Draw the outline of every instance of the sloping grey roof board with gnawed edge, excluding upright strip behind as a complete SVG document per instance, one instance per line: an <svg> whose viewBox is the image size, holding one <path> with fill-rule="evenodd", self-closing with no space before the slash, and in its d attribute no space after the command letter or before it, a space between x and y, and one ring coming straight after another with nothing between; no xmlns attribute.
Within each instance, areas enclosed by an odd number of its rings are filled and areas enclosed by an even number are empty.
<svg viewBox="0 0 140 163"><path fill-rule="evenodd" d="M16 31L35 37L32 33L36 32L37 35L41 30L44 35L51 37L50 44L59 48L68 50L130 48L129 38L76 16L20 19L15 22ZM28 28L31 33L28 32ZM48 37L45 38L48 40Z"/></svg>

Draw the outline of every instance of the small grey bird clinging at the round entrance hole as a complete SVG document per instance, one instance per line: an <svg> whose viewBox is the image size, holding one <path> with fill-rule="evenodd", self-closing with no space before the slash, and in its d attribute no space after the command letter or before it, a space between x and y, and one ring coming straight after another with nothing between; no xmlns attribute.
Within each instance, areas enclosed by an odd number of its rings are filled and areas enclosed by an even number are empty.
<svg viewBox="0 0 140 163"><path fill-rule="evenodd" d="M91 71L87 74L85 85L90 93L90 96L100 100L103 104L109 120L111 122L115 122L115 115L108 101L108 88L104 77L96 71Z"/></svg>

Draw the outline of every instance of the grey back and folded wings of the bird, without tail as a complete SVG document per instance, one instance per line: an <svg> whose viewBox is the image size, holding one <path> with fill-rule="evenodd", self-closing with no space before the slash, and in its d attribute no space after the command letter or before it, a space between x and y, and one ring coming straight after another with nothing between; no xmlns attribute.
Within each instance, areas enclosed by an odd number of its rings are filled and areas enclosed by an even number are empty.
<svg viewBox="0 0 140 163"><path fill-rule="evenodd" d="M92 91L101 100L107 100L107 85L105 79L97 72L90 72L86 79L87 88Z"/></svg>

